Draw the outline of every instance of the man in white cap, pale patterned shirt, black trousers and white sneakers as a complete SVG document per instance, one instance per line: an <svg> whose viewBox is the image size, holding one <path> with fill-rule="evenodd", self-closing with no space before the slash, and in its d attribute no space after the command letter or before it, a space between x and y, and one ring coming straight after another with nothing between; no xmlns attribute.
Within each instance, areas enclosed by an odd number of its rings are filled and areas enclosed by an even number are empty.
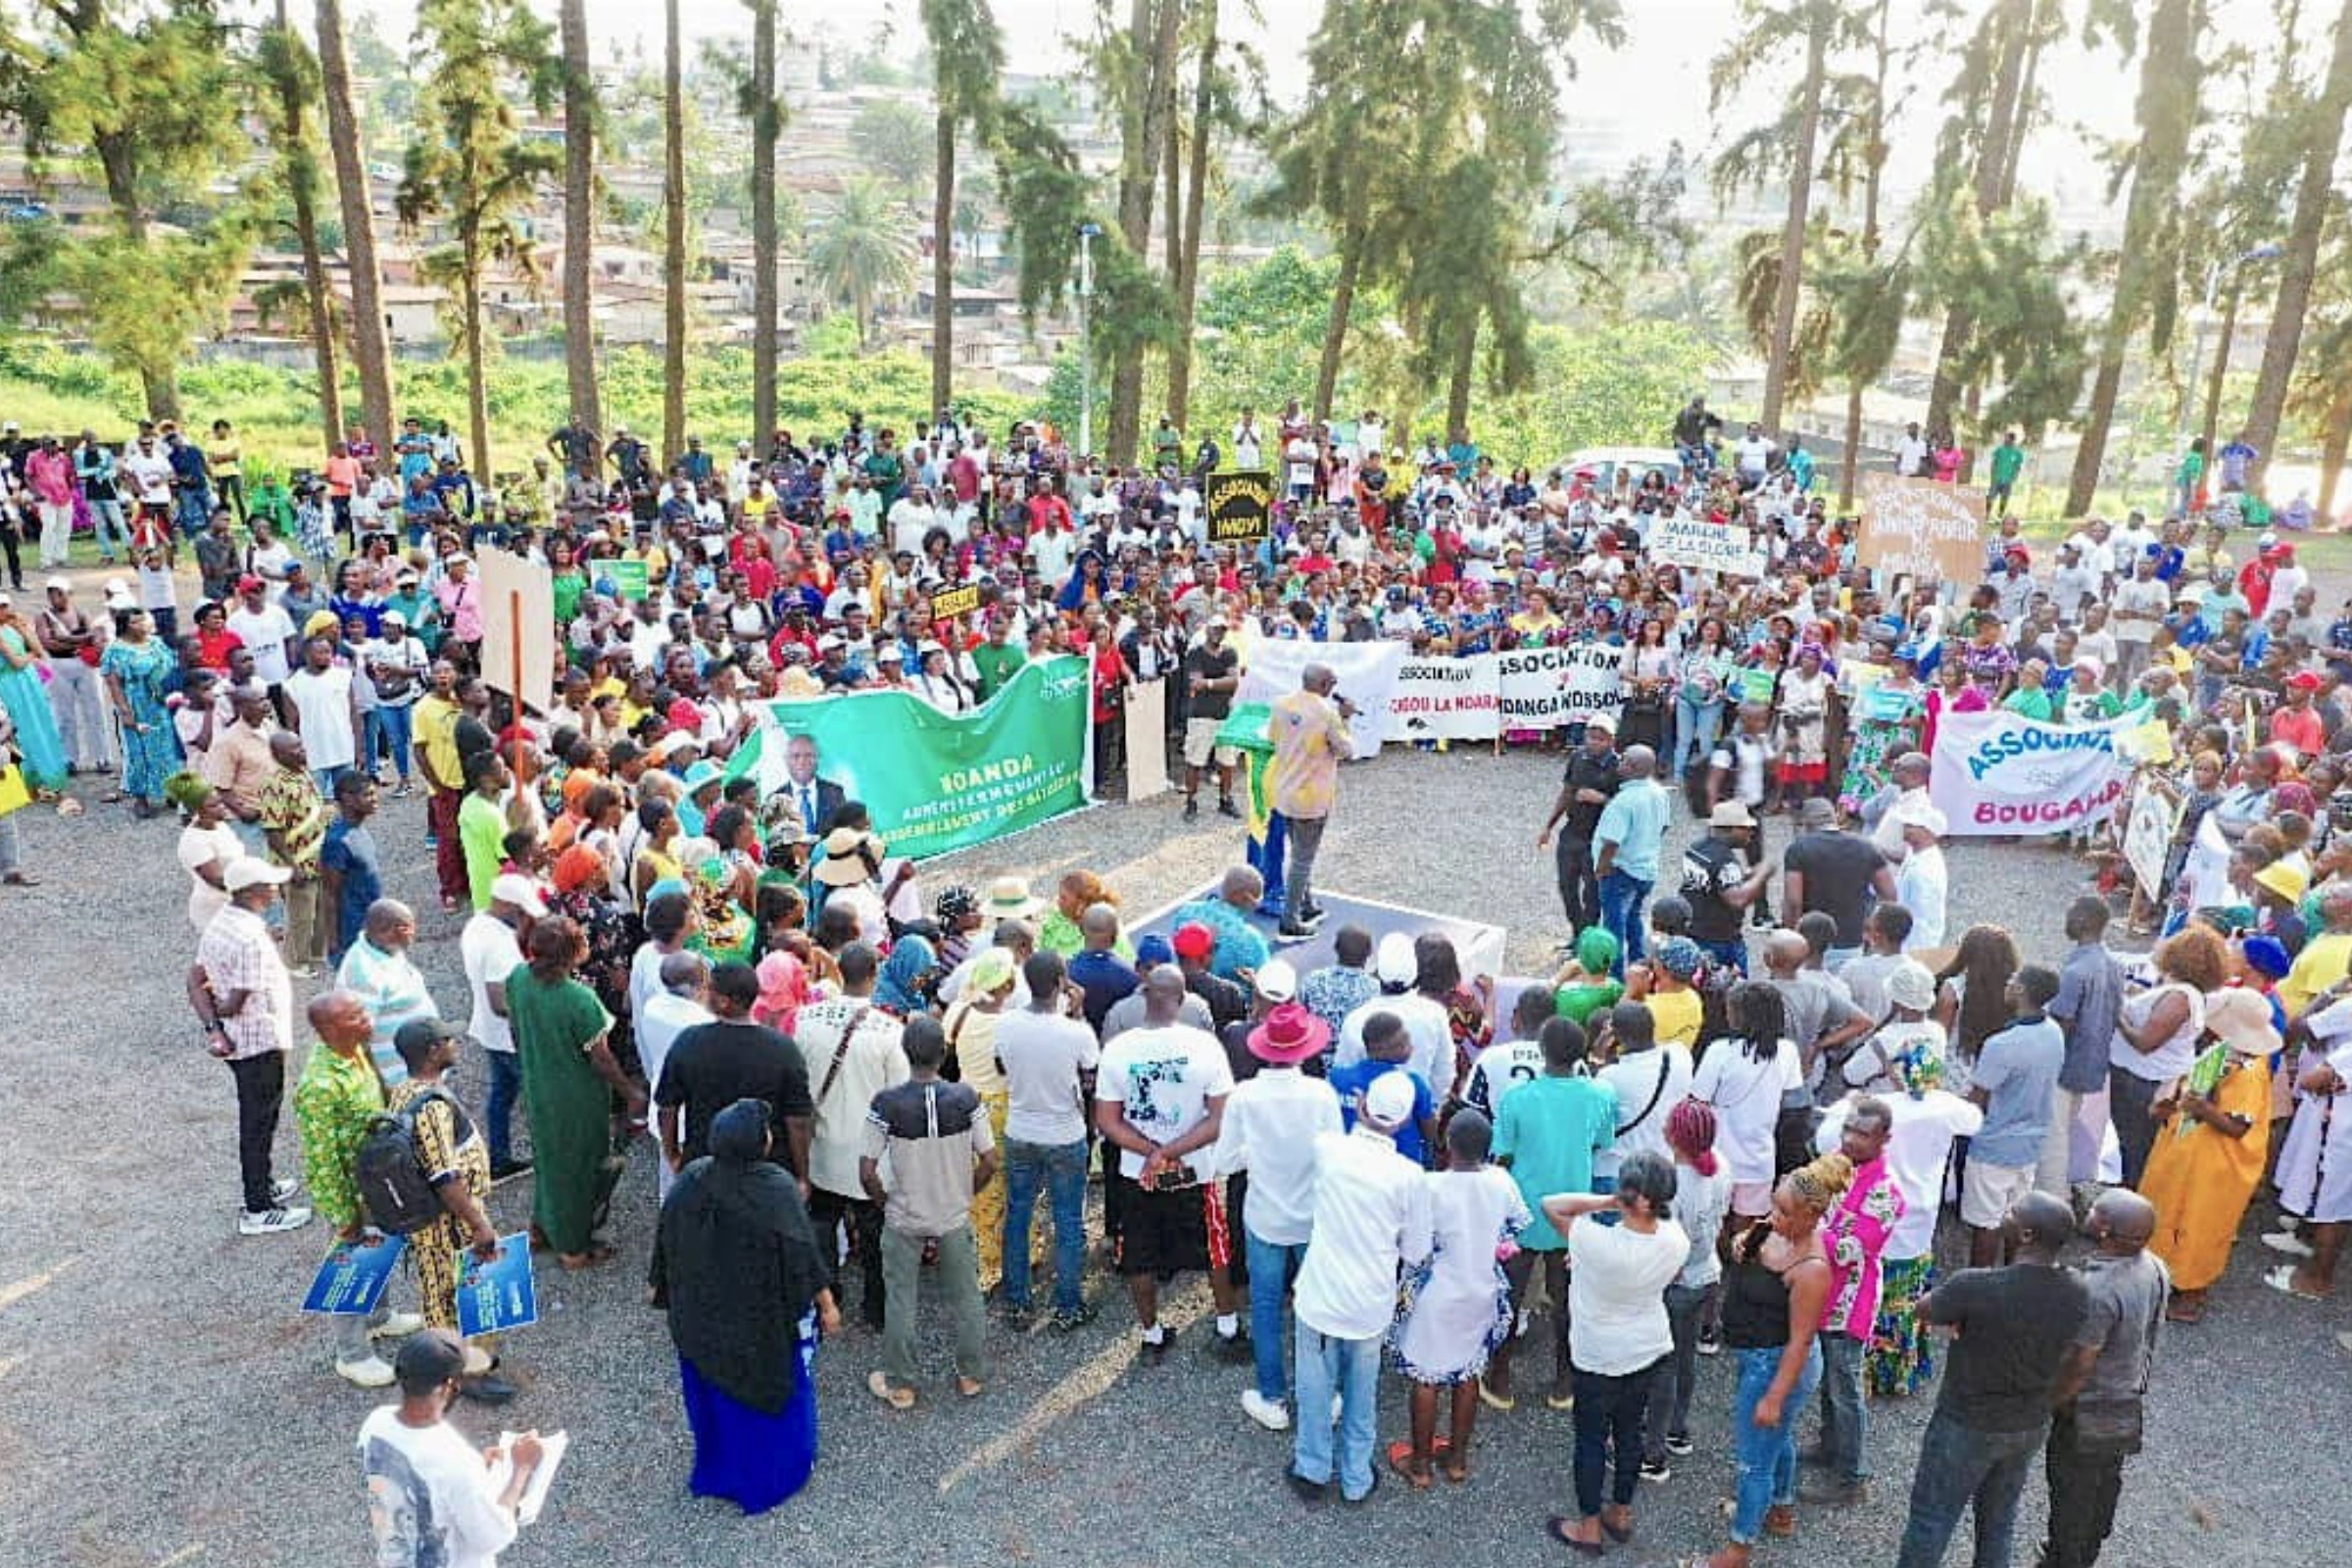
<svg viewBox="0 0 2352 1568"><path fill-rule="evenodd" d="M238 1079L240 1237L270 1237L310 1222L308 1208L287 1208L296 1185L275 1180L270 1171L287 1051L294 1048L294 978L278 957L266 917L292 875L256 856L221 867L228 903L198 938L188 971L188 1006L205 1025L205 1046Z"/></svg>

